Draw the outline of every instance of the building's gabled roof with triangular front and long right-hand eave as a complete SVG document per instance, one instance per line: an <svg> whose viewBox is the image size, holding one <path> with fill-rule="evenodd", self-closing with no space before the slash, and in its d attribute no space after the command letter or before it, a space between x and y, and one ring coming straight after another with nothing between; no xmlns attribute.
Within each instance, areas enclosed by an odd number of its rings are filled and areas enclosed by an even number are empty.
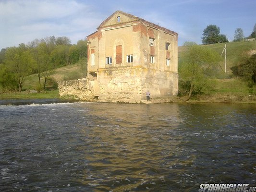
<svg viewBox="0 0 256 192"><path fill-rule="evenodd" d="M117 23L117 16L121 16L122 19L120 21L120 23ZM172 35L176 35L178 36L178 34L174 31L171 31L167 28L161 27L157 24L153 24L151 22L148 22L142 18L139 18L137 16L134 16L132 14L126 13L126 12L122 12L122 11L116 11L113 14L111 14L105 21L103 21L99 26L98 26L98 30L102 29L103 27L107 27L107 26L111 26L111 25L116 25L116 24L123 24L123 23L129 23L129 22L142 22L144 24L147 24L150 27L159 29L159 30L163 30L166 33L172 34Z"/></svg>

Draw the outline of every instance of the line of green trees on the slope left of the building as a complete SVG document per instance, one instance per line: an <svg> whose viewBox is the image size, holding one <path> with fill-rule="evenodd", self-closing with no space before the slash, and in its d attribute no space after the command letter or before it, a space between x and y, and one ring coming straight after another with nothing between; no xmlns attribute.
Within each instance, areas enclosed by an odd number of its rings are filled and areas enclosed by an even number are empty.
<svg viewBox="0 0 256 192"><path fill-rule="evenodd" d="M0 51L0 93L22 91L25 78L37 74L38 90L44 90L56 68L87 58L87 42L71 44L68 37L48 36Z"/></svg>

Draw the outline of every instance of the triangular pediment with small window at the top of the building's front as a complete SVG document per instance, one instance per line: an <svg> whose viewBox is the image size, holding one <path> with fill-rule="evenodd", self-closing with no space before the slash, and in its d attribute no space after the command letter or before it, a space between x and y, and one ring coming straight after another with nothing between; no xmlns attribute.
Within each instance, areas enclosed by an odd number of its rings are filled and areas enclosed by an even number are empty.
<svg viewBox="0 0 256 192"><path fill-rule="evenodd" d="M126 12L116 11L110 15L105 21L103 21L98 28L107 27L115 24L122 24L140 20L139 17L128 14Z"/></svg>

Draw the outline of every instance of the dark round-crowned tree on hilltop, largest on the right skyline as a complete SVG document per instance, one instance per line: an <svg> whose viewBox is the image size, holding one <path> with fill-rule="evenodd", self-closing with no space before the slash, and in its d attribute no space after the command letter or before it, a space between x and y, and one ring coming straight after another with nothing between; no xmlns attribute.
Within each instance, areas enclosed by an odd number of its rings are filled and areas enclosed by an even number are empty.
<svg viewBox="0 0 256 192"><path fill-rule="evenodd" d="M203 31L203 37L201 37L203 44L214 44L219 42L220 29L215 24L207 25Z"/></svg>

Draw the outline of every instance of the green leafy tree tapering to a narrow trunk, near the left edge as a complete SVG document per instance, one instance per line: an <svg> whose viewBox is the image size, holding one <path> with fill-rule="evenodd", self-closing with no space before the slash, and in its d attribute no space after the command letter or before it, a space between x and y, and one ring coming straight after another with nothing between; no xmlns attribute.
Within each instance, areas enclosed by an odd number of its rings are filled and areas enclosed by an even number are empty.
<svg viewBox="0 0 256 192"><path fill-rule="evenodd" d="M21 92L25 77L32 73L32 66L35 60L25 45L20 44L18 48L12 47L7 49L5 63L7 68L14 74L19 92Z"/></svg>

